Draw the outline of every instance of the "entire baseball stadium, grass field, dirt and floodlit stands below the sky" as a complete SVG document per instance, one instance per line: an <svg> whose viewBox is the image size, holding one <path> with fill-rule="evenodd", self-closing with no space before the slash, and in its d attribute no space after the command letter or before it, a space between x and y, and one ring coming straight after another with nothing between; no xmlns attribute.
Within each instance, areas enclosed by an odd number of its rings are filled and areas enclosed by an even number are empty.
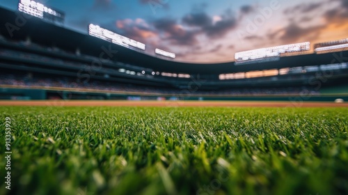
<svg viewBox="0 0 348 195"><path fill-rule="evenodd" d="M0 7L1 194L348 193L348 38L182 62L65 17Z"/></svg>

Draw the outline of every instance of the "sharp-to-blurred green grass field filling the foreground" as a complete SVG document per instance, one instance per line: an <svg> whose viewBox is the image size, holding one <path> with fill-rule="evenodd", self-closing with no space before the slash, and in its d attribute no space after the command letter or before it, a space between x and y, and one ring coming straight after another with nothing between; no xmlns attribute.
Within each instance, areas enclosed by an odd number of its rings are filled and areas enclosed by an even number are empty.
<svg viewBox="0 0 348 195"><path fill-rule="evenodd" d="M348 194L347 108L0 107L0 115L0 194Z"/></svg>

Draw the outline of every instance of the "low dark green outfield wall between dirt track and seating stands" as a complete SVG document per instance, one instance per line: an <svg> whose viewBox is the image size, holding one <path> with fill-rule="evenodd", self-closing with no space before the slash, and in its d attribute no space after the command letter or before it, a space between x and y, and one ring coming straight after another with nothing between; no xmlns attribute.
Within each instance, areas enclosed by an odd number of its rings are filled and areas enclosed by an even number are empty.
<svg viewBox="0 0 348 195"><path fill-rule="evenodd" d="M0 88L0 100L244 100L244 101L291 101L333 102L341 98L348 102L348 93L302 95L194 95L182 93L151 94L112 91L75 90L68 88Z"/></svg>

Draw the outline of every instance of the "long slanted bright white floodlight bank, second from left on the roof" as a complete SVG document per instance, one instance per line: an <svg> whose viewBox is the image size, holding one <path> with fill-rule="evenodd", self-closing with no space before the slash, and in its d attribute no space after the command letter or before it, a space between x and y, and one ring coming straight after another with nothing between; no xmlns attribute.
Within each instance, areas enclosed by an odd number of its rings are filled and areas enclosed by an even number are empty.
<svg viewBox="0 0 348 195"><path fill-rule="evenodd" d="M145 44L143 44L142 42L132 40L125 36L121 36L118 33L114 33L113 31L109 31L107 29L103 29L102 27L97 26L95 24L89 24L88 33L90 36L101 38L102 40L112 42L116 45L121 45L127 48L134 47L137 49L145 50Z"/></svg>

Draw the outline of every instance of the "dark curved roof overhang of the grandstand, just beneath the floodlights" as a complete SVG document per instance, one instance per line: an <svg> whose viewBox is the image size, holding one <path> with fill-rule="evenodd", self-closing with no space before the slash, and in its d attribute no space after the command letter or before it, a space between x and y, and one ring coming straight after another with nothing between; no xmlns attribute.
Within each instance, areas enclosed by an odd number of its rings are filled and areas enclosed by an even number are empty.
<svg viewBox="0 0 348 195"><path fill-rule="evenodd" d="M79 48L82 54L93 56L100 56L105 50L117 51L117 53L111 52L113 60L139 65L143 68L151 68L159 72L188 73L191 75L219 75L227 72L266 70L300 65L320 65L332 63L335 59L335 56L332 54L306 54L282 57L280 61L248 65L235 65L234 62L198 64L167 61L126 47L114 45L87 34L65 29L64 26L57 26L56 24L44 22L36 17L27 17L29 16L24 17L23 13L19 13L18 11L13 12L0 8L1 35L14 40L25 40L27 37L30 37L33 42L39 45L46 45L47 47L54 46L70 52L75 52L76 49ZM87 27L88 26L86 26L86 29ZM9 31L8 28L11 30Z"/></svg>

